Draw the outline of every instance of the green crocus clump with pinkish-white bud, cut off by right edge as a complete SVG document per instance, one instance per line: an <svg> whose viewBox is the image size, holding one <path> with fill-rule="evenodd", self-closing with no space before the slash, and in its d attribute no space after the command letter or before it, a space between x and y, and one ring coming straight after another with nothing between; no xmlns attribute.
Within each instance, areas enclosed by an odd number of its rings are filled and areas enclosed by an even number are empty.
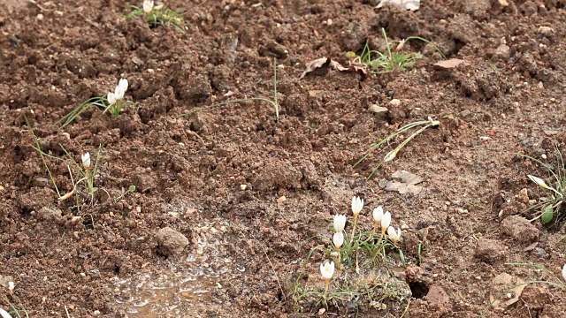
<svg viewBox="0 0 566 318"><path fill-rule="evenodd" d="M566 205L564 205L564 201L566 198L566 168L564 168L564 160L562 158L562 154L558 148L555 149L556 157L557 157L557 168L556 171L552 170L551 167L546 164L542 163L539 160L528 156L528 155L521 155L525 158L531 159L532 161L539 163L545 170L550 171L553 178L555 179L555 186L548 186L545 180L542 178L538 178L532 175L527 175L532 182L534 182L537 186L542 188L546 193L546 197L540 198L539 202L532 205L528 210L536 209L538 210L538 215L534 217L531 221L540 219L542 223L551 223L556 216L556 219L562 218L564 216L564 212L566 211ZM520 154L518 154L520 155Z"/></svg>

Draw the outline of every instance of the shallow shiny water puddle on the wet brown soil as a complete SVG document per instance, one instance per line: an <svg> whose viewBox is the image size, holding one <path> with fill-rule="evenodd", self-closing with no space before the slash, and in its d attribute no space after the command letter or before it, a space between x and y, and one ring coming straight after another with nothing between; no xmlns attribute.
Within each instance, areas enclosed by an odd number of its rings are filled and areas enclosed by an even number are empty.
<svg viewBox="0 0 566 318"><path fill-rule="evenodd" d="M199 223L194 235L196 248L174 264L154 266L143 274L113 280L116 305L126 317L180 317L203 314L210 307L214 291L221 281L245 270L234 264L226 246L224 219Z"/></svg>

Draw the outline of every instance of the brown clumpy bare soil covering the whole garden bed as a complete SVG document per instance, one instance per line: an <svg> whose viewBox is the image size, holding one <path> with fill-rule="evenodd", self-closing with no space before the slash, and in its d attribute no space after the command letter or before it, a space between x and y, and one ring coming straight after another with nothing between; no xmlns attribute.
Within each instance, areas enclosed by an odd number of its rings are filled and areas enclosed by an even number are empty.
<svg viewBox="0 0 566 318"><path fill-rule="evenodd" d="M516 154L555 167L555 149L566 150L564 1L423 0L418 11L375 9L375 0L166 3L186 12L185 33L124 19L131 9L118 0L0 8L0 276L15 283L0 291L1 307L30 317L402 316L396 306L323 313L293 301L296 273L319 279L325 255L304 264L310 249L329 244L332 216L360 195L362 228L378 205L406 224L405 316L564 316L564 292L547 284L488 307L501 274L555 279L509 263L562 279L562 223L529 223L534 211L524 212L545 195L526 175L549 176ZM299 79L319 57L347 65L347 51L379 48L381 27L391 41L421 36L468 64L434 67L440 54L411 40L403 50L424 58L407 72ZM264 102L181 117L272 96L273 57L279 122ZM136 110L93 108L55 125L120 78ZM373 142L429 116L440 127L376 178L366 180L389 148L354 167ZM94 199L80 187L57 200L32 133L58 158L65 148L94 161L102 145ZM61 195L73 189L68 162L46 158ZM386 191L397 170L423 178L422 191Z"/></svg>

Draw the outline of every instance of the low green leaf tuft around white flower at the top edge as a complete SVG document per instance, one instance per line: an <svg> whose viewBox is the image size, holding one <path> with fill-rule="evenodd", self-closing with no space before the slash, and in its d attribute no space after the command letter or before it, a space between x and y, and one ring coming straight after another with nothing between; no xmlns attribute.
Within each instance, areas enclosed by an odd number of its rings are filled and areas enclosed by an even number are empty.
<svg viewBox="0 0 566 318"><path fill-rule="evenodd" d="M142 8L132 5L134 11L126 15L126 19L138 16L145 16L149 27L169 27L172 26L179 32L185 32L185 19L182 10L172 10L164 6L153 5L153 1L144 1Z"/></svg>

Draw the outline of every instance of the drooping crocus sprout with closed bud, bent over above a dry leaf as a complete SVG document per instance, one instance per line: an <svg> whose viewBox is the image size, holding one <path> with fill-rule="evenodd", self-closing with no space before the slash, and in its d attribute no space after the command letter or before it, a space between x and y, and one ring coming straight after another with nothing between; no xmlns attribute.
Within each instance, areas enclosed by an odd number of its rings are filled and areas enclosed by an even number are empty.
<svg viewBox="0 0 566 318"><path fill-rule="evenodd" d="M401 135L402 133L407 133L409 132L411 129L416 128L418 126L422 126L419 130L417 130L417 132L412 133L411 135L409 135L409 137L407 137L405 140L402 141L402 143L400 143L396 148L394 148L393 150L391 150L390 152L388 152L384 157L383 160L371 171L371 174L368 178L373 177L373 175L379 170L379 168L381 167L381 165L383 165L384 163L388 163L392 160L394 160L394 158L397 156L397 154L399 153L399 151L401 151L402 148L404 148L405 146L407 146L407 144L409 143L410 140L413 140L415 137L417 137L417 135L419 135L420 133L423 133L427 128L429 127L436 127L440 125L440 121L439 120L432 120L431 117L428 117L427 120L421 120L421 121L417 121L414 123L410 123L409 125L404 125L401 128L397 129L394 133L388 135L386 138L384 138L383 140L379 140L379 142L374 143L370 146L370 148L364 153L364 155L362 156L362 158L360 158L360 160L358 160L356 163L354 163L354 167L356 167L358 164L363 163L363 161L369 156L371 155L372 152L374 152L375 150L378 150L379 148L381 148L382 146L386 145L389 143L389 141L393 140L395 137Z"/></svg>

